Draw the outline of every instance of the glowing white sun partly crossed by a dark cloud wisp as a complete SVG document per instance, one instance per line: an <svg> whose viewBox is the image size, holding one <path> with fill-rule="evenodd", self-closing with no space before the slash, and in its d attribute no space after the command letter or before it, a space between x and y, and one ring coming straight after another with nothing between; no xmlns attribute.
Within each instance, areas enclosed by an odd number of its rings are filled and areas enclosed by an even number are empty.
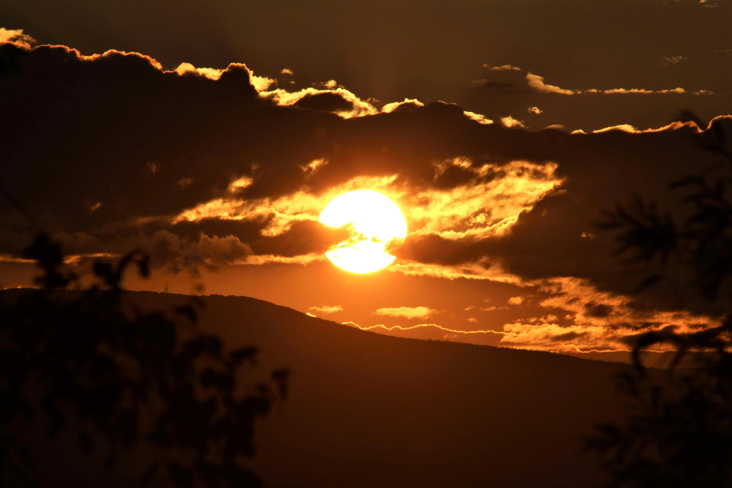
<svg viewBox="0 0 732 488"><path fill-rule="evenodd" d="M407 222L396 203L372 189L338 195L326 205L320 222L331 227L352 225L351 239L325 253L335 266L353 273L386 268L396 258L386 244L407 236Z"/></svg>

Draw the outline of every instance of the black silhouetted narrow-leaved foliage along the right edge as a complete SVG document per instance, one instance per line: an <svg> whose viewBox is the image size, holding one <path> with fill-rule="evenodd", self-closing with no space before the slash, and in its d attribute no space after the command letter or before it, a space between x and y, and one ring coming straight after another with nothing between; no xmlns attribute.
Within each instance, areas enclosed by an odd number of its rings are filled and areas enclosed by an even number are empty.
<svg viewBox="0 0 732 488"><path fill-rule="evenodd" d="M684 118L701 121L692 114ZM732 203L726 188L732 182L732 153L721 124L703 133L701 147L720 161L701 175L673 182L685 189L681 200L690 214L676 224L671 214L634 198L630 208L605 214L602 228L618 233L618 253L661 269L673 261L690 270L690 283L709 302L721 297L732 277ZM709 173L716 179L709 181ZM651 274L641 288L662 274ZM687 293L694 293L687 290ZM722 306L728 301L722 301ZM620 378L632 399L632 413L621 424L603 424L587 446L601 455L613 487L732 486L732 314L722 313L720 325L681 334L673 326L639 335L633 348L632 372ZM668 372L651 372L641 351L658 345L676 350ZM684 361L687 366L683 365Z"/></svg>

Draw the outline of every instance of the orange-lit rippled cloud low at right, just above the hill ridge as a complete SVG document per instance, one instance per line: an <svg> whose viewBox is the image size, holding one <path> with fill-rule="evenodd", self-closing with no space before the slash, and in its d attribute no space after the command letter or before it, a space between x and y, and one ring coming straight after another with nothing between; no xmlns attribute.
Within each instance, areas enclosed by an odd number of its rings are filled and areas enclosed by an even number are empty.
<svg viewBox="0 0 732 488"><path fill-rule="evenodd" d="M438 323L410 327L381 324L359 326L353 322L348 325L395 337L501 345L558 353L627 353L638 334L670 329L687 333L718 325L715 320L690 312L667 312L644 307L636 299L603 292L582 279L555 278L524 285L529 287L527 291L534 290L530 293L545 293L545 298L537 305L529 306L522 297L512 297L509 303L513 301L513 307L488 307L481 310L513 309L523 312L530 307L534 307L535 311L538 307L539 310L545 310L545 314L510 321L497 331L461 331ZM466 311L475 309L467 307ZM469 323L479 322L473 317L465 320ZM657 353L665 350L665 346L652 349Z"/></svg>

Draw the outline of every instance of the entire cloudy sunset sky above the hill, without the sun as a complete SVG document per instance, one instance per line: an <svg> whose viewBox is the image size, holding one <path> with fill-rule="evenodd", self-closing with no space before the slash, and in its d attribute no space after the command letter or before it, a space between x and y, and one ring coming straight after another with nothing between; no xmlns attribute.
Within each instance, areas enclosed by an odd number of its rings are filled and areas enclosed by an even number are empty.
<svg viewBox="0 0 732 488"><path fill-rule="evenodd" d="M617 359L711 323L632 294L602 211L709 167L732 127L722 1L0 2L0 285L38 228L70 266L131 249L132 289L247 295L362 329ZM681 110L701 119L682 123ZM395 263L324 256L374 189Z"/></svg>

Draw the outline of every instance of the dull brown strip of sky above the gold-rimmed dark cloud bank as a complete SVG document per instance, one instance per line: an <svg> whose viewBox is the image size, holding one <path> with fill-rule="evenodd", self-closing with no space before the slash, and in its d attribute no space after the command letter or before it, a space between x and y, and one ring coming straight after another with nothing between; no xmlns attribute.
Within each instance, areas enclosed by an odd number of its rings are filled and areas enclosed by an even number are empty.
<svg viewBox="0 0 732 488"><path fill-rule="evenodd" d="M357 87L360 97L458 102L496 121L523 119L531 129L660 127L682 108L704 119L732 109L728 1L0 0L0 5L5 26L83 53L134 50L168 68L182 61L215 68L244 61L270 78L288 68L288 87L335 79ZM531 88L529 73L572 95ZM659 93L679 88L683 94ZM542 113L527 112L530 107Z"/></svg>

